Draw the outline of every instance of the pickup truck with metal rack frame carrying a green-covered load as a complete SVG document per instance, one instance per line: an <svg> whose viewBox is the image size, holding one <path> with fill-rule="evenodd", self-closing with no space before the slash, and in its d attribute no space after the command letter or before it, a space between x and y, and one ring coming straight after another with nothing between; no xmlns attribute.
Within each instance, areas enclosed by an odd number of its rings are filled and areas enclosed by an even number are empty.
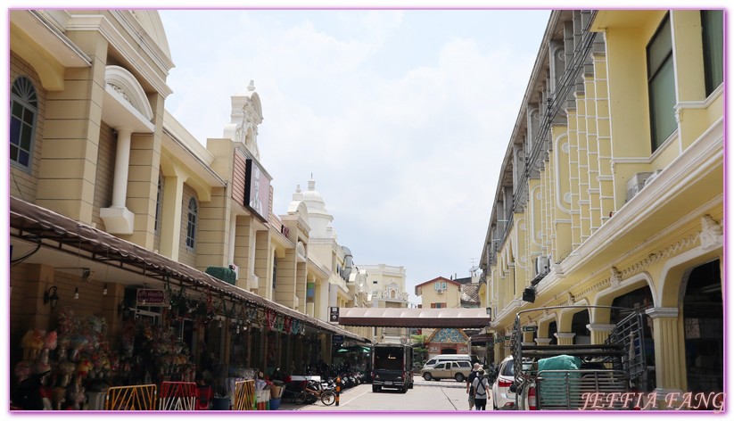
<svg viewBox="0 0 734 421"><path fill-rule="evenodd" d="M605 343L523 343L521 319L528 316L527 312L571 307L544 307L517 313L510 339L515 364L515 382L510 390L515 392L515 409L583 409L588 407L590 397L598 399L613 396L614 393L630 392L631 385L639 385L644 378L647 369L644 358L644 319L638 310L614 308L627 316L614 326ZM608 306L581 307L613 309ZM630 401L618 400L605 409L633 408Z"/></svg>

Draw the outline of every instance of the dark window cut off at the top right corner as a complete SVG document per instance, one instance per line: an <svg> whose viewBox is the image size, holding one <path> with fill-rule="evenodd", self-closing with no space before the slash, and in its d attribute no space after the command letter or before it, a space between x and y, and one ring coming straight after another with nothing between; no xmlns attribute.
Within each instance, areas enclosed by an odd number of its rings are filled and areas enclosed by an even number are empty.
<svg viewBox="0 0 734 421"><path fill-rule="evenodd" d="M701 31L704 42L706 96L708 96L724 81L724 12L701 11Z"/></svg>

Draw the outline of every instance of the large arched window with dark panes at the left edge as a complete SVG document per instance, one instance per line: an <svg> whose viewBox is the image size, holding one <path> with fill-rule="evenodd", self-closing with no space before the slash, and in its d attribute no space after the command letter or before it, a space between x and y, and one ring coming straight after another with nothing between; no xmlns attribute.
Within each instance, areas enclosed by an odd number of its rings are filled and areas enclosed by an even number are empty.
<svg viewBox="0 0 734 421"><path fill-rule="evenodd" d="M38 97L29 78L21 76L12 83L10 107L10 160L23 169L30 169Z"/></svg>

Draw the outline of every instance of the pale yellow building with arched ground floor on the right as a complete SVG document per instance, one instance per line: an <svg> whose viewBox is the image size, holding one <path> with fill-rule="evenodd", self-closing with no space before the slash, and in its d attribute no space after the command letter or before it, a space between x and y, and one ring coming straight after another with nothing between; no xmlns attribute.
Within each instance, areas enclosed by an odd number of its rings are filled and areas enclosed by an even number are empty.
<svg viewBox="0 0 734 421"><path fill-rule="evenodd" d="M647 391L722 392L722 34L722 11L551 13L482 250L495 361L518 310L638 308ZM521 323L524 342L600 343L614 321Z"/></svg>

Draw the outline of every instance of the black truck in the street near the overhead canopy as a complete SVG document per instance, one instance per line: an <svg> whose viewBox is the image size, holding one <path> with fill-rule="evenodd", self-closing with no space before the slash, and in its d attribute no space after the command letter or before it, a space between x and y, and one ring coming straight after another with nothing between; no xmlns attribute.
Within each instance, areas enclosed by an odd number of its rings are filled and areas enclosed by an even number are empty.
<svg viewBox="0 0 734 421"><path fill-rule="evenodd" d="M413 348L399 343L377 343L372 351L372 392L383 387L408 392L413 388Z"/></svg>

